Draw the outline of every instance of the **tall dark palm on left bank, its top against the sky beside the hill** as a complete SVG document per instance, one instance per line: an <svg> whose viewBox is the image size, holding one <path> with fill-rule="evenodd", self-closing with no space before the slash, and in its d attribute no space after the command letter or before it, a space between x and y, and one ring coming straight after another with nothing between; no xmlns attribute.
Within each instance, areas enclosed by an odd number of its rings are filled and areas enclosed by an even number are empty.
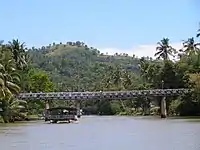
<svg viewBox="0 0 200 150"><path fill-rule="evenodd" d="M25 58L25 43L20 43L19 40L12 40L9 43L9 49L12 52L13 59L17 65L17 69L22 69L27 66L26 58Z"/></svg>

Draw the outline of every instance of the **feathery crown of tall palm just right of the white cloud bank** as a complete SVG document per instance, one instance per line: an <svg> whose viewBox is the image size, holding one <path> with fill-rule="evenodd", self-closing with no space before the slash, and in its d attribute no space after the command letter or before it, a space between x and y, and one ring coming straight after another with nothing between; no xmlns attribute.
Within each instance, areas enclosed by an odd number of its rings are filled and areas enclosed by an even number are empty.
<svg viewBox="0 0 200 150"><path fill-rule="evenodd" d="M157 43L158 46L156 50L158 51L155 53L155 56L158 56L158 59L162 58L163 60L168 60L169 55L174 56L176 50L169 45L169 39L163 38L160 42Z"/></svg>

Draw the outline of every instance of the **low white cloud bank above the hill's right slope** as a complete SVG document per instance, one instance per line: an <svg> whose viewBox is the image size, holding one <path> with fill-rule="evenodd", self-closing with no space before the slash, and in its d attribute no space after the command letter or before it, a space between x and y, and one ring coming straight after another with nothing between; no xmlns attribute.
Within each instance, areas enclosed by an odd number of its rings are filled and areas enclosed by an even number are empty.
<svg viewBox="0 0 200 150"><path fill-rule="evenodd" d="M182 43L171 43L171 46L177 50L182 48ZM108 53L108 55L113 55L115 53L127 53L130 56L133 56L133 54L139 58L145 56L149 56L152 58L155 58L154 54L156 53L156 47L157 45L139 45L135 48L130 49L118 49L118 48L102 48L100 51L102 53Z"/></svg>

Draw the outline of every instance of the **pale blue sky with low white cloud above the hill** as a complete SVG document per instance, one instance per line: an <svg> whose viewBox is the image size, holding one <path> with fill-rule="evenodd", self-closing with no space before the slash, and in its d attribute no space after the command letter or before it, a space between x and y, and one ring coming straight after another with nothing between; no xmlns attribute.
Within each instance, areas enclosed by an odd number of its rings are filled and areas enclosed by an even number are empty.
<svg viewBox="0 0 200 150"><path fill-rule="evenodd" d="M199 0L4 0L0 39L27 46L83 41L108 54L153 56L156 43L172 46L196 35Z"/></svg>

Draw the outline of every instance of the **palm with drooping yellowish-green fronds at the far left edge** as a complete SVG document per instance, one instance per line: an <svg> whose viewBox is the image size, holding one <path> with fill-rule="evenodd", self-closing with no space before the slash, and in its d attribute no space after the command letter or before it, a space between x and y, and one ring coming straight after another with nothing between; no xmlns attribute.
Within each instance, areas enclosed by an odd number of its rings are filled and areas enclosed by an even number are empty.
<svg viewBox="0 0 200 150"><path fill-rule="evenodd" d="M20 92L20 87L17 85L20 82L20 77L16 73L15 63L12 59L10 51L1 51L0 57L0 101L3 103L3 113L1 114L5 122L10 120L10 102L14 102L14 94Z"/></svg>

